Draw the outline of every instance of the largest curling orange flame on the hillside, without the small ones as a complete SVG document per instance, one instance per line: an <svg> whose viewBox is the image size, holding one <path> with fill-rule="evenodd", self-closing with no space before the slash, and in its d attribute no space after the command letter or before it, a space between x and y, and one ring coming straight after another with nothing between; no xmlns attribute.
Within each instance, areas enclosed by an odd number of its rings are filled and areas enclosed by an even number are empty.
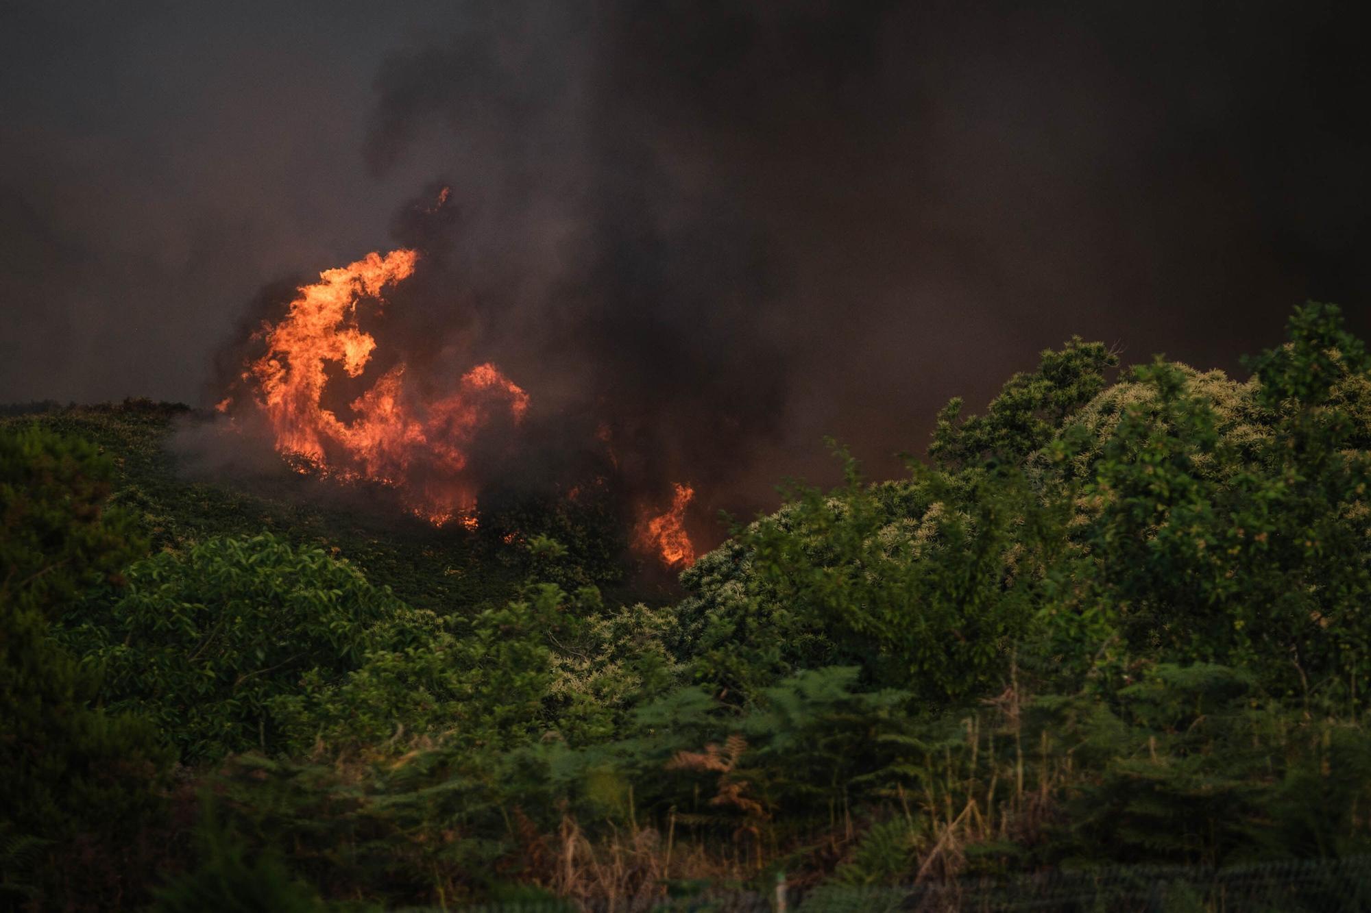
<svg viewBox="0 0 1371 913"><path fill-rule="evenodd" d="M351 421L324 404L329 367L361 377L377 348L358 325L358 306L374 299L378 310L381 291L409 278L417 260L410 249L373 252L319 273L280 322L263 325L258 337L267 351L243 378L255 385L280 452L322 474L398 487L417 515L435 525L458 520L470 529L474 488L462 476L469 446L498 410L518 422L529 404L528 393L495 365L473 367L447 395L421 399L406 387L402 362L352 400ZM221 403L221 411L228 406Z"/></svg>

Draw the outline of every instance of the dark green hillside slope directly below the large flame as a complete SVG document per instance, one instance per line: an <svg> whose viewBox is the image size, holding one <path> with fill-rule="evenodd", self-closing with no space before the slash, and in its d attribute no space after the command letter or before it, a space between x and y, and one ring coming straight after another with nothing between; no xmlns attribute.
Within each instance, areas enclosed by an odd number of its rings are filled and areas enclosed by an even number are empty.
<svg viewBox="0 0 1371 913"><path fill-rule="evenodd" d="M502 535L535 535L551 526L558 535L562 529L574 533L566 536L569 543L602 546L595 535L598 515L584 518L563 510L548 517L540 504L510 506L491 515L477 533L461 526L435 529L399 509L385 488L321 483L284 462L228 470L203 466L195 456L203 443L188 447L186 441L208 433L206 417L185 406L125 400L0 417L0 428L32 424L80 437L107 455L112 463L110 503L155 551L184 551L218 536L267 532L293 546L347 555L406 605L440 614L498 605L517 591L528 573L525 552L506 544ZM240 443L233 441L233 447ZM222 443L217 448L225 450ZM595 569L599 576L594 583L613 577L605 562Z"/></svg>

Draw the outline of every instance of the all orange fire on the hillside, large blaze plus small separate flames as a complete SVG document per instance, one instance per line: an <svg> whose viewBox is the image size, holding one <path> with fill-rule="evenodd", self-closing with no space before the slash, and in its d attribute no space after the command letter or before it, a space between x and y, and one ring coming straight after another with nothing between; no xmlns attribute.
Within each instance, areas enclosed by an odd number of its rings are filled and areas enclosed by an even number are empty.
<svg viewBox="0 0 1371 913"><path fill-rule="evenodd" d="M263 418L274 448L302 473L378 483L435 525L474 529L481 488L528 446L521 432L533 398L489 361L411 376L403 344L387 339L385 317L388 296L421 259L411 248L372 252L300 285L280 317L252 332L251 354L217 410ZM594 439L588 446L617 469L607 425L599 422ZM639 509L647 515L635 547L668 568L690 566L692 496L676 484L665 513Z"/></svg>

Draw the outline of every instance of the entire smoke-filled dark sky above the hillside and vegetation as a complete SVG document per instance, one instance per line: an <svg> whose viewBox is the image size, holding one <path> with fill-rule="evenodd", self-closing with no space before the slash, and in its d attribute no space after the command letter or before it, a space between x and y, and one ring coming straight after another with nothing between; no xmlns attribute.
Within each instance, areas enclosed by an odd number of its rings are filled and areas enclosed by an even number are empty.
<svg viewBox="0 0 1371 913"><path fill-rule="evenodd" d="M1333 10L7 0L0 402L213 402L263 287L398 244L415 347L761 491L824 435L921 450L1072 333L1228 369L1305 299L1367 333Z"/></svg>

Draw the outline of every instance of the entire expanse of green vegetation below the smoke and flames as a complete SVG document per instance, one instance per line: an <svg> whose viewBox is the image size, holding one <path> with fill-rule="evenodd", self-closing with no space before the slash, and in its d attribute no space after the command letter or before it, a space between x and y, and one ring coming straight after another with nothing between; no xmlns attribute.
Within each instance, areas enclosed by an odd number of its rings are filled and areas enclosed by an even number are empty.
<svg viewBox="0 0 1371 913"><path fill-rule="evenodd" d="M1071 340L954 400L903 480L839 451L843 485L787 489L653 605L599 514L377 529L181 480L163 407L5 419L7 901L1371 851L1371 356L1309 304L1246 381L1116 361Z"/></svg>

